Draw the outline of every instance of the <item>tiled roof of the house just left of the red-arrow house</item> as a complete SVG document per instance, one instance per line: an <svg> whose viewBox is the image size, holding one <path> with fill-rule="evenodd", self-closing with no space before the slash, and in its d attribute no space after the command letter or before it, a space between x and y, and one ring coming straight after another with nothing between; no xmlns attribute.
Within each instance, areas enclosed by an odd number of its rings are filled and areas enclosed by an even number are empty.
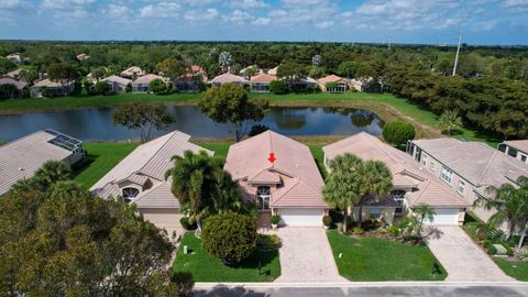
<svg viewBox="0 0 528 297"><path fill-rule="evenodd" d="M170 180L165 180L165 173L173 166L172 157L182 156L185 151L195 153L206 151L210 155L213 154L189 140L190 135L174 131L138 146L97 182L90 190L101 197L117 197L121 195L119 184L130 182L144 185L146 180L151 179L151 182L155 182L153 187L140 193L135 199L139 207L179 207L178 200L170 193Z"/></svg>

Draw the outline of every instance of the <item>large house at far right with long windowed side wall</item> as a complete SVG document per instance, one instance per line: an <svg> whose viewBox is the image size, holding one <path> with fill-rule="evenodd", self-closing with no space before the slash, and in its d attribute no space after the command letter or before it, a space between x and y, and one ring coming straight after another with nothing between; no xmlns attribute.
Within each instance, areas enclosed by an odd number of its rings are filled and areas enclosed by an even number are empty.
<svg viewBox="0 0 528 297"><path fill-rule="evenodd" d="M413 140L407 143L407 153L470 205L480 196L487 197L490 186L515 184L519 176L528 176L526 164L481 142ZM484 221L493 215L481 207L473 211Z"/></svg>

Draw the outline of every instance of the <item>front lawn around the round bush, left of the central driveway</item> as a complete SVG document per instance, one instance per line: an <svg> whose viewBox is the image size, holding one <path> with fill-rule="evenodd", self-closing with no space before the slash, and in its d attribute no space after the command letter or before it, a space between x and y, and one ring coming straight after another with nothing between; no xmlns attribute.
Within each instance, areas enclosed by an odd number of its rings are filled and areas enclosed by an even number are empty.
<svg viewBox="0 0 528 297"><path fill-rule="evenodd" d="M191 254L184 254L187 245ZM258 262L262 270L258 272ZM201 248L201 240L187 233L182 240L173 271L188 271L196 282L273 282L280 275L278 251L258 252L238 266L226 266L222 261L209 255Z"/></svg>

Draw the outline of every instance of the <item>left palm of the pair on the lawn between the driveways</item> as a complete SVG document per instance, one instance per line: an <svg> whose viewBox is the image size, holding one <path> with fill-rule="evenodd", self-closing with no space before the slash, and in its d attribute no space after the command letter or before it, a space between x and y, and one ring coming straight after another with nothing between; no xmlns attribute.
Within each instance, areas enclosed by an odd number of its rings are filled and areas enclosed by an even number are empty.
<svg viewBox="0 0 528 297"><path fill-rule="evenodd" d="M362 161L355 155L339 155L330 161L330 175L322 188L322 197L326 202L343 210L343 231L346 232L346 218L349 208L356 205L361 199L358 195L358 167Z"/></svg>

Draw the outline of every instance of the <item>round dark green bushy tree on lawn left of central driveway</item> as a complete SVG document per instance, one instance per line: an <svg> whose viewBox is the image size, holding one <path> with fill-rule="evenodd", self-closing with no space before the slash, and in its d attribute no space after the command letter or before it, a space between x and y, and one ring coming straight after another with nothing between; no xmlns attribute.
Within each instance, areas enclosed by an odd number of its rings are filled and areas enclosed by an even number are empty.
<svg viewBox="0 0 528 297"><path fill-rule="evenodd" d="M209 217L201 233L204 249L226 264L240 263L256 248L256 222L232 211Z"/></svg>

